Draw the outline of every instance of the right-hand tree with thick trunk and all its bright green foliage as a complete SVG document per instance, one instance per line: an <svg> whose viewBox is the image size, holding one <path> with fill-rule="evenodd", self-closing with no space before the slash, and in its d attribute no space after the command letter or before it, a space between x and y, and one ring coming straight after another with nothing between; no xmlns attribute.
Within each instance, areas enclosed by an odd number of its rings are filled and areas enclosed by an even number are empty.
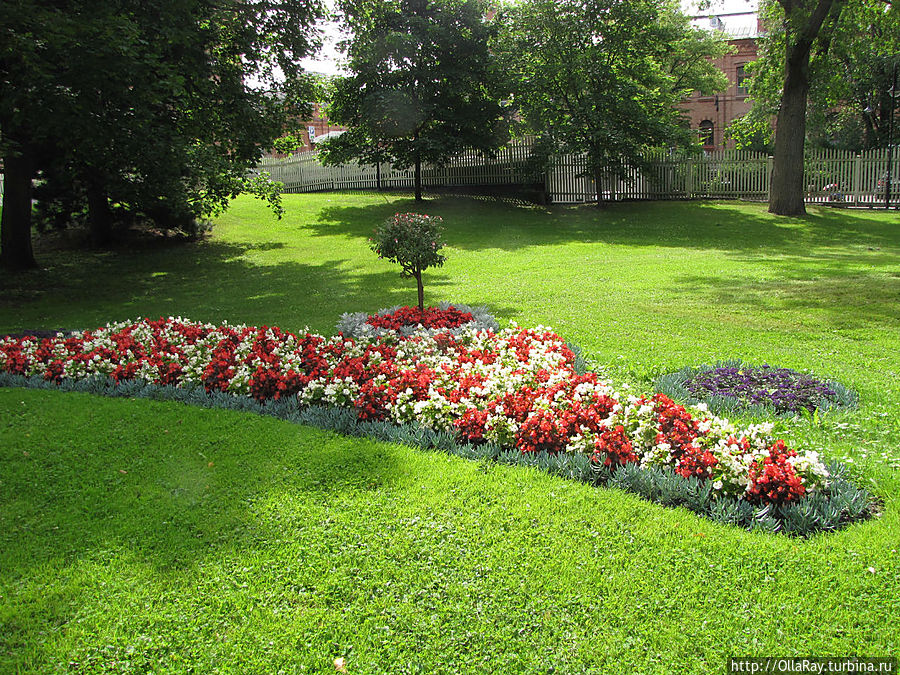
<svg viewBox="0 0 900 675"><path fill-rule="evenodd" d="M900 14L884 0L772 0L761 11L768 32L752 64L754 105L733 131L744 147L760 145L776 118L769 210L800 215L807 142L888 145Z"/></svg>

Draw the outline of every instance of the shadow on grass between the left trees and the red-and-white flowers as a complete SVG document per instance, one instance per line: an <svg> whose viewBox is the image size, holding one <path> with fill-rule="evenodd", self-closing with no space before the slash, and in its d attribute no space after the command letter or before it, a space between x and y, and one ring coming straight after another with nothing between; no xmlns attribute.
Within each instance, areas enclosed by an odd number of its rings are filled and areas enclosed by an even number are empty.
<svg viewBox="0 0 900 675"><path fill-rule="evenodd" d="M46 269L3 280L0 334L170 315L331 334L345 311L415 302L415 286L397 271L348 269L340 251L317 264L255 264L246 256L280 248L205 241L141 252L51 251L42 256ZM439 270L426 276L426 299L449 283ZM492 310L501 319L514 314Z"/></svg>

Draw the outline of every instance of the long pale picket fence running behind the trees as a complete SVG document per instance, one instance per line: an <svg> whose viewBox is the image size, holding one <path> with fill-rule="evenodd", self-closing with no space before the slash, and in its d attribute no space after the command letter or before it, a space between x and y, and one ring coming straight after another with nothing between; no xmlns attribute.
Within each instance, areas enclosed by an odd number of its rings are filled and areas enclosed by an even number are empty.
<svg viewBox="0 0 900 675"><path fill-rule="evenodd" d="M426 188L475 185L543 183L550 201L559 204L592 202L598 186L588 175L583 155L558 155L545 175L536 173L531 139L518 139L496 157L469 151L444 166L423 168ZM891 206L900 207L900 148L892 160ZM772 175L772 158L741 150L721 150L703 155L656 150L644 157L643 169L630 169L624 179L610 177L599 186L602 199L748 199L766 201ZM884 177L888 172L886 149L862 154L838 150L812 150L806 157L806 200L810 203L842 203L865 206L884 203ZM257 167L284 183L286 192L327 190L405 189L413 186L411 169L346 164L323 166L313 152L283 159L266 158ZM380 186L379 186L380 182Z"/></svg>

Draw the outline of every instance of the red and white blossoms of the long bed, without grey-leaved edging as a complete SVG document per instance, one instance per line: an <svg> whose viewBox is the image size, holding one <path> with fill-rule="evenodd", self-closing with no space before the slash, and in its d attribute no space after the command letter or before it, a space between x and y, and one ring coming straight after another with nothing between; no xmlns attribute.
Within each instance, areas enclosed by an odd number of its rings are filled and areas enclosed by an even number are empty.
<svg viewBox="0 0 900 675"><path fill-rule="evenodd" d="M145 380L352 410L522 455L590 458L598 473L665 469L708 494L760 507L827 495L830 473L771 424L736 428L703 406L633 396L545 328L354 340L183 319L110 324L52 339L0 341L0 371L45 381ZM693 489L693 488L691 488Z"/></svg>

